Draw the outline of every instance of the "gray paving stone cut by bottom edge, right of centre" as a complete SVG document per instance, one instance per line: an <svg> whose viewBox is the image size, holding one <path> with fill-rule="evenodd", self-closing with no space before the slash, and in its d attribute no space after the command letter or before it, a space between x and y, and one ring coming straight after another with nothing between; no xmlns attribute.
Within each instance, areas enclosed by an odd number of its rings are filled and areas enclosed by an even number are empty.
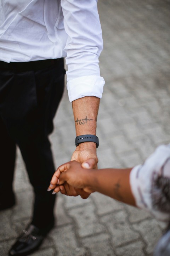
<svg viewBox="0 0 170 256"><path fill-rule="evenodd" d="M145 256L145 252L143 252L143 248L145 245L141 242L134 242L129 245L121 246L116 249L116 253L118 256Z"/></svg>

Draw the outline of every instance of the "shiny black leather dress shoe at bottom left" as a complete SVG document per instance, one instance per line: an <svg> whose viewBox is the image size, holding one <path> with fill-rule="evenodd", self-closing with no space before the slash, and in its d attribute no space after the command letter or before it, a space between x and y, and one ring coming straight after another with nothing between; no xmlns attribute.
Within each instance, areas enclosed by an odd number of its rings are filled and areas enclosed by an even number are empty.
<svg viewBox="0 0 170 256"><path fill-rule="evenodd" d="M19 236L18 240L11 247L9 255L29 255L30 253L38 249L46 234L44 233L44 231L30 224L27 229L23 230L23 233Z"/></svg>

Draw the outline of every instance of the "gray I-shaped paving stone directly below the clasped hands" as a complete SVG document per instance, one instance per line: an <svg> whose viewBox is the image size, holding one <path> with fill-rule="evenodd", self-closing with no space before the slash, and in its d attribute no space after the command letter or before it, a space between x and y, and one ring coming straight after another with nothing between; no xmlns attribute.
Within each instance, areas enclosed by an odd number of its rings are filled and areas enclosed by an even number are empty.
<svg viewBox="0 0 170 256"><path fill-rule="evenodd" d="M70 209L69 215L74 219L80 237L89 236L104 231L104 226L99 223L94 204L85 204L82 207Z"/></svg>

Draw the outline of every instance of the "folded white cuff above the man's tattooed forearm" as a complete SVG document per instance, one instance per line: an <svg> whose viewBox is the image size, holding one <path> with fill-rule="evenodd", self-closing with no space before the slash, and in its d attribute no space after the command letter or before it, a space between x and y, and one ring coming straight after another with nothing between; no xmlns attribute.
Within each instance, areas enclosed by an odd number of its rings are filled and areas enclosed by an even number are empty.
<svg viewBox="0 0 170 256"><path fill-rule="evenodd" d="M101 76L81 76L67 83L69 101L85 96L102 97L104 79Z"/></svg>

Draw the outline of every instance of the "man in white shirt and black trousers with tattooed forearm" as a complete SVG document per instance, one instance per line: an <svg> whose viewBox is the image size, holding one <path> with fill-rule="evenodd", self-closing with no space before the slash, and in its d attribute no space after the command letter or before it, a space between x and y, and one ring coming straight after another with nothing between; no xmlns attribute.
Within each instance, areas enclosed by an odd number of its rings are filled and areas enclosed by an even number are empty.
<svg viewBox="0 0 170 256"><path fill-rule="evenodd" d="M10 255L33 252L54 225L55 196L46 192L55 171L48 135L63 93L63 57L76 135L91 135L77 137L84 143L77 143L72 160L94 158L93 167L97 166L96 119L104 85L98 66L102 47L97 0L0 2L0 209L15 204L16 144L35 192L32 222ZM7 189L6 180L10 182ZM65 186L69 194L88 197L82 190Z"/></svg>

